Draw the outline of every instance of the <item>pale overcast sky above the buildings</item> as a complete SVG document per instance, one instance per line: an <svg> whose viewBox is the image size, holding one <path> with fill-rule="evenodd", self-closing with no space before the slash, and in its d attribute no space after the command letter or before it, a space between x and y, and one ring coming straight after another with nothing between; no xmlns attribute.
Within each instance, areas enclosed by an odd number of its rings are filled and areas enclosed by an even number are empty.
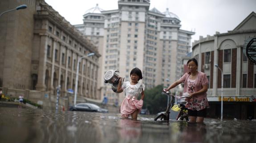
<svg viewBox="0 0 256 143"><path fill-rule="evenodd" d="M118 0L45 0L71 24L82 24L86 10L99 4L104 10L118 9ZM199 35L214 35L233 30L252 11L256 0L150 0L150 9L174 13L181 20L181 29L195 31L192 42Z"/></svg>

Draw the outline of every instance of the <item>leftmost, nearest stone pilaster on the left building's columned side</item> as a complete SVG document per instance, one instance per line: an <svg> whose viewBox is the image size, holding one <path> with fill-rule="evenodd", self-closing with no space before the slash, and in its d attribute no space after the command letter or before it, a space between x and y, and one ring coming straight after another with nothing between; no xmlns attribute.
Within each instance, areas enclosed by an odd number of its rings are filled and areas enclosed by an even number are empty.
<svg viewBox="0 0 256 143"><path fill-rule="evenodd" d="M36 89L45 91L45 70L46 70L46 56L47 56L47 35L40 34L40 56L39 56L39 65L38 65L38 78Z"/></svg>

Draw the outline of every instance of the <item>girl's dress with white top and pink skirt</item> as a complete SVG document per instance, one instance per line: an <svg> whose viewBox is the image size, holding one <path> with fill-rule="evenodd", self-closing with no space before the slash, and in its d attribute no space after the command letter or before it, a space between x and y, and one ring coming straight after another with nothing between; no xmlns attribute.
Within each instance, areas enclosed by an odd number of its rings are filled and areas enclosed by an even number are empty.
<svg viewBox="0 0 256 143"><path fill-rule="evenodd" d="M142 93L142 89L144 91L145 85L143 83L138 82L136 85L131 85L129 81L126 81L122 84L122 89L125 92L125 99L121 104L121 114L122 117L128 117L135 110L141 110L143 105L143 100L138 100L138 95Z"/></svg>

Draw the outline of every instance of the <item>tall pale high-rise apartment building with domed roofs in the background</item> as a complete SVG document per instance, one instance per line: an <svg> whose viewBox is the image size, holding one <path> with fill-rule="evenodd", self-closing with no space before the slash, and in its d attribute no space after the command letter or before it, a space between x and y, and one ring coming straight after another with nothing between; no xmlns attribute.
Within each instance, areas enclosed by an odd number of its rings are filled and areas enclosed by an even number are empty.
<svg viewBox="0 0 256 143"><path fill-rule="evenodd" d="M97 5L85 13L84 24L75 26L91 39L103 37L103 46L97 45L102 52L98 89L112 103L122 99L104 84L106 71L120 70L128 81L130 70L138 67L146 88L167 86L180 77L181 57L190 52L191 35L195 33L181 30L179 17L168 9L159 12L149 7L150 0L118 0L118 9L109 11L102 11Z"/></svg>

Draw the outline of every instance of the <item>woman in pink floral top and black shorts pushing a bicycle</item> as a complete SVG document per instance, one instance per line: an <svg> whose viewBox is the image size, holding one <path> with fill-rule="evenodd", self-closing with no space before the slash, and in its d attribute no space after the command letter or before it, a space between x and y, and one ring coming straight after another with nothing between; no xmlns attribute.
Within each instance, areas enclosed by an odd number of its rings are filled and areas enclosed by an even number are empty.
<svg viewBox="0 0 256 143"><path fill-rule="evenodd" d="M185 73L178 81L175 81L167 89L163 91L169 91L175 88L177 85L184 83L184 93L189 93L186 97L186 108L188 108L189 122L203 123L206 117L207 108L209 108L207 100L208 79L206 74L198 71L198 62L195 58L191 58L187 61L188 73Z"/></svg>

